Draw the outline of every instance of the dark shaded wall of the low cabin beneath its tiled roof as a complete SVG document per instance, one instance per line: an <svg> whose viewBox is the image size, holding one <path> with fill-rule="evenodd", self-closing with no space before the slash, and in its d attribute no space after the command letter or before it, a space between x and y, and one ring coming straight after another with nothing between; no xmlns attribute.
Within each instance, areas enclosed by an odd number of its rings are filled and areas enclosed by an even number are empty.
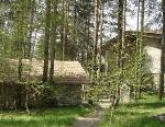
<svg viewBox="0 0 165 127"><path fill-rule="evenodd" d="M40 88L40 85L38 85ZM0 109L53 107L81 104L81 84L55 84L52 89L0 83Z"/></svg>

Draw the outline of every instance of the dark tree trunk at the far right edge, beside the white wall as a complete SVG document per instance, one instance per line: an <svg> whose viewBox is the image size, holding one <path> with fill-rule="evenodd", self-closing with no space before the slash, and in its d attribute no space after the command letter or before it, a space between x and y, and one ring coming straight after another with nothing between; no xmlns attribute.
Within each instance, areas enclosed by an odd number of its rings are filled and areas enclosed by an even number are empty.
<svg viewBox="0 0 165 127"><path fill-rule="evenodd" d="M164 94L164 58L165 58L165 0L162 0L162 9L163 9L163 38L162 38L162 53L161 53L161 74L160 74L160 90L158 90L158 99L163 99Z"/></svg>

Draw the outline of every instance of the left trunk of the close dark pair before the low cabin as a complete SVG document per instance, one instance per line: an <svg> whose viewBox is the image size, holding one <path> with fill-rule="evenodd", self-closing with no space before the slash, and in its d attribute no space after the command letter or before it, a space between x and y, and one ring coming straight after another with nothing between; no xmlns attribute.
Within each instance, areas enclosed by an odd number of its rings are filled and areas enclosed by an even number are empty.
<svg viewBox="0 0 165 127"><path fill-rule="evenodd" d="M47 72L48 72L50 25L51 25L51 0L46 0L43 82L47 81Z"/></svg>

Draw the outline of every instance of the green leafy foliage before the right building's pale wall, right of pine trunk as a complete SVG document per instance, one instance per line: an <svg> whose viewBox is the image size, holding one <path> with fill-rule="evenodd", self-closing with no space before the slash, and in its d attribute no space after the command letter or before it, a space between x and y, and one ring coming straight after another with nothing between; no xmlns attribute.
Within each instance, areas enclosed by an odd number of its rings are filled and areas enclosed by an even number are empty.
<svg viewBox="0 0 165 127"><path fill-rule="evenodd" d="M132 54L128 56L129 61L123 68L124 83L130 86L145 86L147 79L142 79L145 74L145 55ZM142 81L143 80L143 81Z"/></svg>

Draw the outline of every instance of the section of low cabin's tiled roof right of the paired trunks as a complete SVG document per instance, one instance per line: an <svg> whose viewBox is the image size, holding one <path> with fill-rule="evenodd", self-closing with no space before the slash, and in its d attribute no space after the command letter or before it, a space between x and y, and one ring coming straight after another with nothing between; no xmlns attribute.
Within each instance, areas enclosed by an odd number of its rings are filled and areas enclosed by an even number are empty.
<svg viewBox="0 0 165 127"><path fill-rule="evenodd" d="M78 61L55 61L56 83L89 83L89 77Z"/></svg>

